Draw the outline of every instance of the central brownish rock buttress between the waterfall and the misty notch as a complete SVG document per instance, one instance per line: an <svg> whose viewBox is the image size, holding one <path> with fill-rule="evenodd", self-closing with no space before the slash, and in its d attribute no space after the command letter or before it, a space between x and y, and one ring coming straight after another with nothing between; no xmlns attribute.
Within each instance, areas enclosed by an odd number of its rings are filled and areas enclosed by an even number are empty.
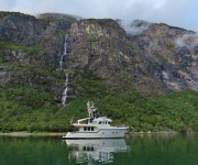
<svg viewBox="0 0 198 165"><path fill-rule="evenodd" d="M133 88L135 64L141 62L127 38L127 34L113 20L81 20L72 24L65 67L85 68L90 75L106 79L110 91L124 92ZM131 88L132 87L132 88Z"/></svg>

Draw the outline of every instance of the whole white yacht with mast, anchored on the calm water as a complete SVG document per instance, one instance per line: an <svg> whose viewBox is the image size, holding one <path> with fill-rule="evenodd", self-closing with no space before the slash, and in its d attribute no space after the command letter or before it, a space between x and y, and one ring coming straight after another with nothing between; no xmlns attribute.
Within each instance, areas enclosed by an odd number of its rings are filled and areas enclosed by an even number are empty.
<svg viewBox="0 0 198 165"><path fill-rule="evenodd" d="M128 127L111 127L111 119L100 117L92 101L87 102L89 118L79 119L77 123L70 122L78 131L68 132L63 139L118 139L124 138Z"/></svg>

